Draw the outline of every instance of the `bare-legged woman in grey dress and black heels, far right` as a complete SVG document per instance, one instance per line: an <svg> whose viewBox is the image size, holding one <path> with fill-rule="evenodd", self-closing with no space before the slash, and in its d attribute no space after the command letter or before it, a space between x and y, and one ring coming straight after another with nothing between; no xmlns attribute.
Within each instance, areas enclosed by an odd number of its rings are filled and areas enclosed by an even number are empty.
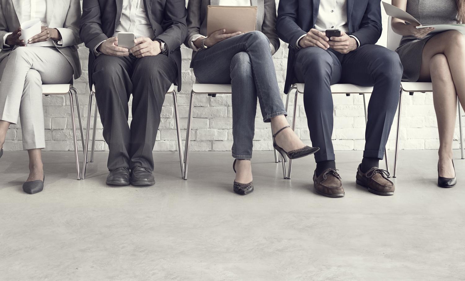
<svg viewBox="0 0 465 281"><path fill-rule="evenodd" d="M465 20L465 0L392 0L392 5L410 13L423 25L457 24ZM394 32L403 35L397 49L404 65L403 80L432 82L438 119L438 185L456 183L452 162L457 98L465 105L465 36L458 31L434 33L433 28L392 19Z"/></svg>

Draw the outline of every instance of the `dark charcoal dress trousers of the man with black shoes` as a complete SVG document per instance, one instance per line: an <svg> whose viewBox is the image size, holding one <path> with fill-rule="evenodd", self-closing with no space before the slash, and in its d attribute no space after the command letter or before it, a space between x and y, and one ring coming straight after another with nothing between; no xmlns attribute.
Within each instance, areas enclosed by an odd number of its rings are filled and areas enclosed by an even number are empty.
<svg viewBox="0 0 465 281"><path fill-rule="evenodd" d="M113 57L99 55L93 64L95 98L109 146L108 170L126 167L154 169L153 146L166 91L178 69L166 55ZM129 97L133 94L131 127Z"/></svg>

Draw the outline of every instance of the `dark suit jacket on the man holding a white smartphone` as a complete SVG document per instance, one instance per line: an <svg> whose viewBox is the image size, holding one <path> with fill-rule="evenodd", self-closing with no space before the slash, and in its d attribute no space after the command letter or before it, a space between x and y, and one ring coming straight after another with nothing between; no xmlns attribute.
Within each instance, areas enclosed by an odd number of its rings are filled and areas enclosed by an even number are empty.
<svg viewBox="0 0 465 281"><path fill-rule="evenodd" d="M144 0L147 18L152 25L155 37L168 46L168 57L178 66L178 91L181 89L180 46L187 36L185 0ZM89 87L92 88L93 62L96 58L93 49L101 41L113 36L120 24L123 0L84 0L80 20L80 38L89 48ZM160 54L161 55L161 54Z"/></svg>

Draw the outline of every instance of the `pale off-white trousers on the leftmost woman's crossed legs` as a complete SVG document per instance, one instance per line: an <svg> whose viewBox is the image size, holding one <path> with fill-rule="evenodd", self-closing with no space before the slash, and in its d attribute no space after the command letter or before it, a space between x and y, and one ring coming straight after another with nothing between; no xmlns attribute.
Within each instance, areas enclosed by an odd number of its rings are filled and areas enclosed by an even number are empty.
<svg viewBox="0 0 465 281"><path fill-rule="evenodd" d="M18 47L0 63L0 120L17 124L23 148L45 148L42 84L67 84L73 67L54 47Z"/></svg>

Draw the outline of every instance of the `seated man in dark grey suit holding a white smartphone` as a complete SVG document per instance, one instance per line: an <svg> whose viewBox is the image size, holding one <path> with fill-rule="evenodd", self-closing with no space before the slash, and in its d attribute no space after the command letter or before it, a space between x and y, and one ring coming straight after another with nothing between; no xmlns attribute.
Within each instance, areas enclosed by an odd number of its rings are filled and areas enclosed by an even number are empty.
<svg viewBox="0 0 465 281"><path fill-rule="evenodd" d="M89 85L95 85L103 137L109 146L109 185L155 183L152 150L166 91L180 90L187 34L184 0L84 0L80 37L90 49ZM135 47L117 34L134 33ZM128 101L133 94L131 127Z"/></svg>

